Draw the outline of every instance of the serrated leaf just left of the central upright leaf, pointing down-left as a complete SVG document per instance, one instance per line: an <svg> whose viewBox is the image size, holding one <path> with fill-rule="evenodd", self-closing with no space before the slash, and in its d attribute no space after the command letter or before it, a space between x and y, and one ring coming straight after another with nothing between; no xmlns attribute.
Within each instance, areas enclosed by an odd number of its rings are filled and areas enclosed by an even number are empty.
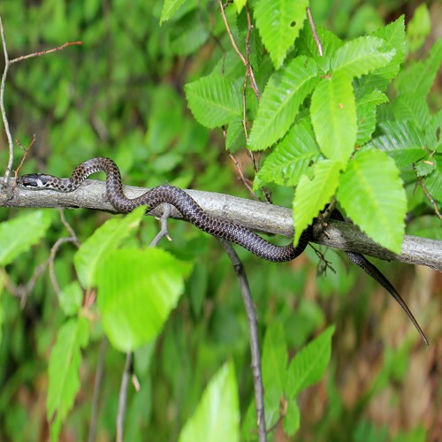
<svg viewBox="0 0 442 442"><path fill-rule="evenodd" d="M304 56L294 58L289 65L274 73L259 103L248 138L249 149L266 149L283 137L318 80L315 61Z"/></svg>

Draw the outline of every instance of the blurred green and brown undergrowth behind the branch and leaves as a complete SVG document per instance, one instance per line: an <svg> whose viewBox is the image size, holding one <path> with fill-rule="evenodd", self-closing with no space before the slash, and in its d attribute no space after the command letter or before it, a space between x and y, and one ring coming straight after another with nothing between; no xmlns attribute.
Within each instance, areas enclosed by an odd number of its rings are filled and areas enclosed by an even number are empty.
<svg viewBox="0 0 442 442"><path fill-rule="evenodd" d="M407 23L418 4L324 0L312 2L311 7L317 25L351 38L401 14ZM424 54L442 34L442 5L427 2L427 6L429 34L424 32L423 19L420 26L426 38L412 57ZM154 0L2 1L0 14L10 58L82 42L11 66L5 104L13 137L27 146L36 134L23 171L69 176L80 162L103 155L118 163L127 184L153 187L169 182L249 197L225 152L223 133L196 123L183 93L184 84L209 73L230 48L217 2L188 1L160 27L162 7L163 2ZM234 14L229 19L234 21ZM431 93L433 111L442 102L440 81L439 75ZM240 148L235 157L253 178L248 155ZM19 149L16 154L17 165ZM4 136L0 159L6 164ZM290 205L290 189L273 190L275 202ZM0 209L0 220L24 211ZM66 234L57 210L51 214L48 237L0 276L14 285L27 283L55 241ZM69 210L65 217L79 239L85 240L110 215ZM148 217L139 236L149 243L157 229ZM190 225L171 221L170 233L173 241L163 241L161 247L193 260L194 272L156 345L142 347L136 354L141 391L131 390L127 440L174 440L207 380L229 357L235 362L244 411L253 395L247 317L228 258L217 240ZM74 252L66 245L57 254L60 286L74 278ZM344 255L326 250L336 273L318 276L318 260L311 248L286 264L266 263L242 249L238 252L248 271L262 334L267 324L281 322L293 354L326 324L337 326L327 376L301 394L297 439L442 438L440 273L377 263L423 326L431 341L426 348L399 306L365 274L350 268ZM48 355L64 316L47 272L38 278L23 308L8 288L1 301L0 438L45 440ZM95 332L84 355L80 394L63 440L88 437L100 360L104 369L96 435L97 440L115 437L125 358L103 344L101 330ZM142 431L149 433L142 436ZM284 440L278 431L275 440Z"/></svg>

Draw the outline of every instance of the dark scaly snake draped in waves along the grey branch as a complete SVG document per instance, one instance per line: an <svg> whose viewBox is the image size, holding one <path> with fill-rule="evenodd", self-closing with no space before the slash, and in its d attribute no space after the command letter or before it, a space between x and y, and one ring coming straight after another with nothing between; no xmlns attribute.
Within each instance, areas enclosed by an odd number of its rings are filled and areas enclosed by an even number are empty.
<svg viewBox="0 0 442 442"><path fill-rule="evenodd" d="M105 156L97 156L81 163L72 171L70 178L61 179L44 173L30 173L19 177L17 179L17 186L33 190L50 189L57 192L72 192L80 187L81 183L87 179L89 175L98 171L105 172L106 196L112 207L119 213L131 212L142 205L148 206L148 210L153 210L162 203L169 203L179 210L182 217L203 232L236 243L267 261L275 263L292 261L302 254L309 245L309 241L313 239L312 227L310 225L301 233L300 240L296 247L293 246L292 242L286 246L272 244L270 241L264 240L261 236L242 225L209 215L187 192L171 185L153 187L136 198L127 198L123 192L121 173L118 169L118 165ZM345 218L339 210L333 210L331 218L345 221ZM413 316L410 309L408 309L407 303L401 298L400 294L394 286L392 286L390 281L385 278L383 273L379 271L374 264L370 263L365 256L351 251L346 251L346 254L352 263L361 267L363 271L375 279L378 284L383 286L385 290L392 295L393 299L399 303L400 307L414 324L415 329L428 345L428 339L415 320L415 316Z"/></svg>

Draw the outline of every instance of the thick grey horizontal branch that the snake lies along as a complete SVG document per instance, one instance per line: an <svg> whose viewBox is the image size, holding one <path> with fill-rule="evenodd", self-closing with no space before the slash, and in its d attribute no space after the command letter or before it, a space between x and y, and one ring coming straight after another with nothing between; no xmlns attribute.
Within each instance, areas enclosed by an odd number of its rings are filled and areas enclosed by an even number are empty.
<svg viewBox="0 0 442 442"><path fill-rule="evenodd" d="M8 193L6 189L7 187L0 193L0 207L81 207L115 212L110 202L107 201L103 181L87 180L78 190L69 194L22 188L15 188L13 193ZM146 190L142 187L125 186L128 198L139 196ZM226 194L198 190L187 190L187 193L210 215L223 217L260 232L293 236L291 209ZM162 213L160 206L149 214L158 217ZM178 210L172 208L171 217L181 217L181 215ZM395 255L367 238L356 226L331 220L326 229L326 235L320 235L314 242L332 248L376 256L388 261L426 265L442 271L442 241L438 240L407 235L402 246L402 253Z"/></svg>

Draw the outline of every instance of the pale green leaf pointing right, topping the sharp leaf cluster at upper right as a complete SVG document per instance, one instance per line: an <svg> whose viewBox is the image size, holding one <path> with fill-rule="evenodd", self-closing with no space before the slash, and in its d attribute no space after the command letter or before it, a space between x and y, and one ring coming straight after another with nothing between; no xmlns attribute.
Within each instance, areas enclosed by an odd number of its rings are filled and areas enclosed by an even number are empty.
<svg viewBox="0 0 442 442"><path fill-rule="evenodd" d="M359 37L347 42L331 58L331 70L361 77L379 67L388 65L396 50L385 48L385 41L377 37Z"/></svg>

